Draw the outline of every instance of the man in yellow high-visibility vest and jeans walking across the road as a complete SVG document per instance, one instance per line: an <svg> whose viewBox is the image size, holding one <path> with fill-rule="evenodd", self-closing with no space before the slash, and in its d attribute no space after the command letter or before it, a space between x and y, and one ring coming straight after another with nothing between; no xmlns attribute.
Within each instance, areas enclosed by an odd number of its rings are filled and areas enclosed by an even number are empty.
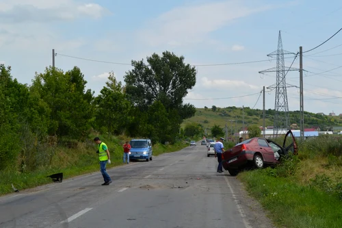
<svg viewBox="0 0 342 228"><path fill-rule="evenodd" d="M108 147L105 144L105 142L101 142L100 138L98 137L94 138L94 142L98 145L98 150L96 151L96 153L98 153L98 160L100 160L101 173L103 179L105 180L105 183L103 183L102 185L109 186L109 183L111 183L111 178L109 177L106 171L106 164L111 164Z"/></svg>

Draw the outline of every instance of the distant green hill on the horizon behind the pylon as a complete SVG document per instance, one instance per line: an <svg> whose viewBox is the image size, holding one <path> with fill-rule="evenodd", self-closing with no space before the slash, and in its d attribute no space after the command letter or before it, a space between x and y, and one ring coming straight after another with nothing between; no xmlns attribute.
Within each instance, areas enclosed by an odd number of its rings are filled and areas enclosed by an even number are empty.
<svg viewBox="0 0 342 228"><path fill-rule="evenodd" d="M242 107L216 107L215 111L211 107L197 108L196 114L192 118L186 119L182 127L185 127L187 123L198 123L202 125L207 132L210 133L210 128L213 125L220 125L224 127L226 124L232 131L240 131L242 129L243 114ZM267 126L273 126L274 122L274 110L266 110L265 123ZM244 107L244 123L248 125L263 125L263 110L253 110L250 107ZM289 112L290 125L295 124L300 127L300 112ZM328 130L332 127L342 126L342 116L322 116L320 114L314 114L311 112L304 112L304 127L311 128L319 126L320 129Z"/></svg>

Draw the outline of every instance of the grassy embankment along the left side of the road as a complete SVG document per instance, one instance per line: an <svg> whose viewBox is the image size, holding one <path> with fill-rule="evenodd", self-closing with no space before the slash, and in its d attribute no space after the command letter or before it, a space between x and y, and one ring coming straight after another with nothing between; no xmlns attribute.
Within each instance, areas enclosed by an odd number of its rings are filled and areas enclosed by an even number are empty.
<svg viewBox="0 0 342 228"><path fill-rule="evenodd" d="M94 138L94 137L90 137ZM100 136L105 142L111 153L111 164L107 165L108 168L119 166L122 164L122 144L127 138L123 137L111 137ZM177 142L172 145L154 144L153 155L157 156L161 153L168 153L173 151L179 151L188 144L183 142ZM98 172L99 177L99 165L98 157L95 153L96 145L90 139L86 142L78 142L73 144L72 147L56 146L54 148L47 149L47 156L51 155L51 162L46 166L37 167L36 170L26 171L20 173L13 170L2 170L0 173L0 195L13 192L11 183L14 184L18 190L27 188L34 188L46 183L51 183L51 179L47 178L47 175L53 173L62 172L64 179L69 177L75 177L91 172Z"/></svg>

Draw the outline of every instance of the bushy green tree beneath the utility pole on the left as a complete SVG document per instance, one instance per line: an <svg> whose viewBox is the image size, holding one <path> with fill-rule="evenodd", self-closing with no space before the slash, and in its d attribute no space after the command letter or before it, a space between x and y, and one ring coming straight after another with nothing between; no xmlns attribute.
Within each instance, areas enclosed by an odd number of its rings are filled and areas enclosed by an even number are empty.
<svg viewBox="0 0 342 228"><path fill-rule="evenodd" d="M78 67L64 73L46 68L36 74L31 91L39 94L51 109L49 134L84 138L93 118L93 92L86 90L87 81Z"/></svg>

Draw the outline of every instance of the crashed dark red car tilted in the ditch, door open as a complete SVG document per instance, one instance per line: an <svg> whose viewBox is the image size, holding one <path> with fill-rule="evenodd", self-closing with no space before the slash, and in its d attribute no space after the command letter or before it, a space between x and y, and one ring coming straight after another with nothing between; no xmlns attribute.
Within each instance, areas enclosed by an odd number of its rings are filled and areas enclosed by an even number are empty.
<svg viewBox="0 0 342 228"><path fill-rule="evenodd" d="M240 142L222 153L222 166L232 176L236 176L244 168L278 164L288 153L298 153L298 145L291 130L287 131L282 147L272 140L259 137Z"/></svg>

